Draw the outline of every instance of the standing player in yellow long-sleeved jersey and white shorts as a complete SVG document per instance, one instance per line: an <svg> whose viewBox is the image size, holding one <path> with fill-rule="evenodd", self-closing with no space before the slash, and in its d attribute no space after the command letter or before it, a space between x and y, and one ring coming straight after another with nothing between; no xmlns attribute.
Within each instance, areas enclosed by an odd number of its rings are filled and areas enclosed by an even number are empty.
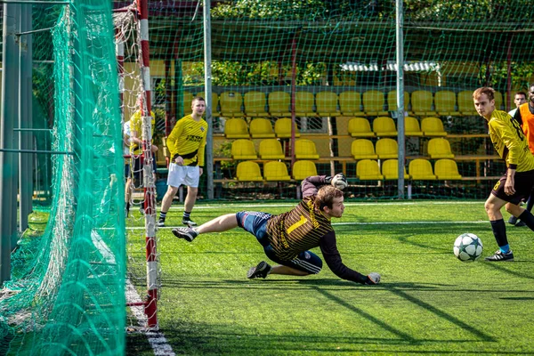
<svg viewBox="0 0 534 356"><path fill-rule="evenodd" d="M182 223L188 226L197 225L190 219L190 214L197 201L198 181L203 172L202 166L204 166L207 123L202 115L206 110L206 101L203 98L194 98L191 102L191 109L192 113L178 120L167 137L171 163L167 177L168 188L161 202L158 227L165 226L166 214L182 184L187 185Z"/></svg>

